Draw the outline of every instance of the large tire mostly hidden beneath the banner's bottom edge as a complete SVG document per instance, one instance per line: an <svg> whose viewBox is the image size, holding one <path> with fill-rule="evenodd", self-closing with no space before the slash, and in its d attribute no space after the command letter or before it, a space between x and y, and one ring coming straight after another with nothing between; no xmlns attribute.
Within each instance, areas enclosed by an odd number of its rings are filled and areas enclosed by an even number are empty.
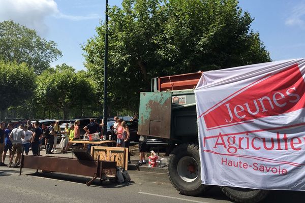
<svg viewBox="0 0 305 203"><path fill-rule="evenodd" d="M237 187L221 187L221 189L231 200L241 203L260 202L269 194L269 190L257 190Z"/></svg>

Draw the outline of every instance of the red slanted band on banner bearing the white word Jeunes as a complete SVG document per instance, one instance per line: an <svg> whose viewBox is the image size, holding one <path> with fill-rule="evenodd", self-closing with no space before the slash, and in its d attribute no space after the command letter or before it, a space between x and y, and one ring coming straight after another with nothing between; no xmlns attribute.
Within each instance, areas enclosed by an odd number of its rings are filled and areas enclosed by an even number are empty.
<svg viewBox="0 0 305 203"><path fill-rule="evenodd" d="M297 64L267 76L234 92L201 114L206 127L225 128L228 124L241 124L305 107L305 82Z"/></svg>

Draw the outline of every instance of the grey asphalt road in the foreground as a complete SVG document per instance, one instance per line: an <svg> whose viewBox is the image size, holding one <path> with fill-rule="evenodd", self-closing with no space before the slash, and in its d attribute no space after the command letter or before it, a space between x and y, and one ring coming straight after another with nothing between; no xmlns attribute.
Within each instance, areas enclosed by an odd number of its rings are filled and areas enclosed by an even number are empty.
<svg viewBox="0 0 305 203"><path fill-rule="evenodd" d="M23 168L0 167L0 203L10 202L230 202L219 187L197 196L180 195L170 184L167 175L129 171L132 181L114 184L96 180L87 187L88 177L38 173ZM305 192L273 191L264 202L302 202Z"/></svg>

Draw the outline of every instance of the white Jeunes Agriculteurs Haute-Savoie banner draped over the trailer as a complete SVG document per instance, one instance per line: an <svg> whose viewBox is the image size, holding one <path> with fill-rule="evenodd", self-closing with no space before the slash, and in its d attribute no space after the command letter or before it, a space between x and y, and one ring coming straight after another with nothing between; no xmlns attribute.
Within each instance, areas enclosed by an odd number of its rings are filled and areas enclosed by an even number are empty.
<svg viewBox="0 0 305 203"><path fill-rule="evenodd" d="M204 72L202 184L305 190L305 59Z"/></svg>

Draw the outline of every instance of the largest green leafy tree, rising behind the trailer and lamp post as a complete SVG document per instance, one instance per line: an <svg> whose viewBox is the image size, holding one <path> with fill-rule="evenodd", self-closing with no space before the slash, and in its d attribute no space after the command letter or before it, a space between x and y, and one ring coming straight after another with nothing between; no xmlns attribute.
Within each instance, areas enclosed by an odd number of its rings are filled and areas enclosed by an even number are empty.
<svg viewBox="0 0 305 203"><path fill-rule="evenodd" d="M109 102L137 111L151 77L270 61L237 0L124 0L109 9ZM105 24L83 46L102 95ZM100 97L102 101L103 98Z"/></svg>

